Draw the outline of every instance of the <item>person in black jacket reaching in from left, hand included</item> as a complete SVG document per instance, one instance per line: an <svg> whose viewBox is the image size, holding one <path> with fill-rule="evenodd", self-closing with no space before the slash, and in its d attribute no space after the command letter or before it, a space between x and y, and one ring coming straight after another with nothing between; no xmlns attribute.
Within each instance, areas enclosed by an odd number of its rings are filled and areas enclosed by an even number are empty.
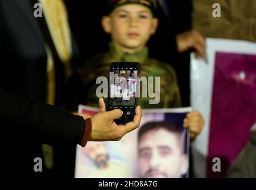
<svg viewBox="0 0 256 190"><path fill-rule="evenodd" d="M1 163L4 163L1 170L5 177L15 175L27 178L45 172L33 171L33 159L26 160L18 154L27 153L23 141L15 138L18 135L30 144L36 140L63 148L76 144L85 147L87 141L120 140L127 132L137 128L141 121L141 109L138 106L132 122L116 125L113 120L120 118L123 113L119 109L106 112L103 99L99 99L100 113L84 120L82 116L73 115L57 106L36 102L29 96L17 96L1 88L0 97L2 134L11 137L1 138ZM36 175L31 175L32 172Z"/></svg>

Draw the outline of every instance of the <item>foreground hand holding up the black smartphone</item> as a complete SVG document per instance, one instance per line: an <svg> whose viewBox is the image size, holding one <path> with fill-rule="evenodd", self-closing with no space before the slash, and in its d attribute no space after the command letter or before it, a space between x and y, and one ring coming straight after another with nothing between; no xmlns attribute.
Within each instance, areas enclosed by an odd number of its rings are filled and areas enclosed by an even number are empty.
<svg viewBox="0 0 256 190"><path fill-rule="evenodd" d="M117 125L113 121L122 116L120 109L114 109L106 112L105 103L102 98L99 99L100 112L94 115L92 120L92 131L90 133L89 141L118 141L130 131L138 128L141 122L141 107L137 106L135 109L135 116L132 122L126 125Z"/></svg>

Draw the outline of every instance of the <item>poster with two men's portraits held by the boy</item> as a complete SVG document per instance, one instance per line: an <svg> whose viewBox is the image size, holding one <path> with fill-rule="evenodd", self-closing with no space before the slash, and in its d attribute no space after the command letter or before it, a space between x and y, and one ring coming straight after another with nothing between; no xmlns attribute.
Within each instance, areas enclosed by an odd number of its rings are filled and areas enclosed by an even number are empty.
<svg viewBox="0 0 256 190"><path fill-rule="evenodd" d="M191 108L144 109L139 128L120 141L77 145L75 178L188 178ZM98 109L79 106L92 116Z"/></svg>

